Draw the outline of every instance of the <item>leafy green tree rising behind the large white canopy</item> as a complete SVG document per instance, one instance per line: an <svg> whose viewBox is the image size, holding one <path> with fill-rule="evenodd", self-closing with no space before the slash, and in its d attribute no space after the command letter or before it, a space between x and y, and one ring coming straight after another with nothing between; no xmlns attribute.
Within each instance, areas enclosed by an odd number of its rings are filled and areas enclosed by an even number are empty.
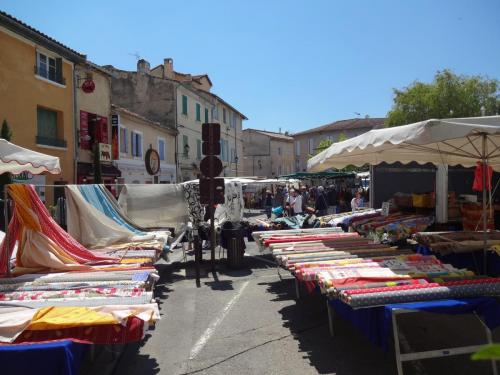
<svg viewBox="0 0 500 375"><path fill-rule="evenodd" d="M482 76L438 71L431 83L419 81L394 90L386 124L397 126L431 118L495 115L500 110L500 83Z"/></svg>

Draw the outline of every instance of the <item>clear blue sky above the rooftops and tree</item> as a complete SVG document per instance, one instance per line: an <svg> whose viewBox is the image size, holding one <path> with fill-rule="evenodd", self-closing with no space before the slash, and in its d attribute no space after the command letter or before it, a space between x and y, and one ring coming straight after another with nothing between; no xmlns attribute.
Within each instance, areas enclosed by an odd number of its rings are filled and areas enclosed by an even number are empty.
<svg viewBox="0 0 500 375"><path fill-rule="evenodd" d="M500 79L499 0L0 0L97 64L174 59L208 73L246 127L291 132L355 112L450 68ZM1 51L0 51L1 54Z"/></svg>

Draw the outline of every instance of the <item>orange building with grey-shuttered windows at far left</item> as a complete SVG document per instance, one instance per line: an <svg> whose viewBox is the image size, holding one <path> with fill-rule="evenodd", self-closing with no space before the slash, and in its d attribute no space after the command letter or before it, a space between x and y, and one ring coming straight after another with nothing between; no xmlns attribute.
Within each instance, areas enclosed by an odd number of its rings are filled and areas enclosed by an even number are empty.
<svg viewBox="0 0 500 375"><path fill-rule="evenodd" d="M0 123L5 119L12 142L58 156L60 175L29 176L37 185L75 181L75 64L85 55L0 11ZM53 204L47 190L42 199Z"/></svg>

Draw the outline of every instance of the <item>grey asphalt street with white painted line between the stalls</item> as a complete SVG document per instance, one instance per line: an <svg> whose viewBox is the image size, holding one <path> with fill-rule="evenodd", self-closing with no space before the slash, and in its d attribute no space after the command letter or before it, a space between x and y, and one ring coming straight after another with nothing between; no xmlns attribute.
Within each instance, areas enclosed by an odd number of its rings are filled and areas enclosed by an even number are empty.
<svg viewBox="0 0 500 375"><path fill-rule="evenodd" d="M162 267L157 287L162 319L145 342L101 350L88 373L396 374L393 346L382 350L337 316L330 337L324 297L303 291L297 301L293 278L283 270L280 276L255 244L247 245L244 269L230 271L221 261L212 273L207 264L199 288L190 259ZM484 331L471 316L407 314L400 321L405 350L484 342ZM463 355L408 363L404 371L490 374L491 367Z"/></svg>

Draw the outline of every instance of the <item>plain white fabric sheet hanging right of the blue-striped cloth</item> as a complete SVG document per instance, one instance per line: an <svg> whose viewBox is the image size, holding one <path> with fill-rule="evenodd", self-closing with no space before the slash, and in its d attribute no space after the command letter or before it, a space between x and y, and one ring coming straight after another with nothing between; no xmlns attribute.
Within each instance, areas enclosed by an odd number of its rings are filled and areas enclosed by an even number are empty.
<svg viewBox="0 0 500 375"><path fill-rule="evenodd" d="M188 207L178 184L125 185L118 197L123 213L143 228L175 228L188 222Z"/></svg>

